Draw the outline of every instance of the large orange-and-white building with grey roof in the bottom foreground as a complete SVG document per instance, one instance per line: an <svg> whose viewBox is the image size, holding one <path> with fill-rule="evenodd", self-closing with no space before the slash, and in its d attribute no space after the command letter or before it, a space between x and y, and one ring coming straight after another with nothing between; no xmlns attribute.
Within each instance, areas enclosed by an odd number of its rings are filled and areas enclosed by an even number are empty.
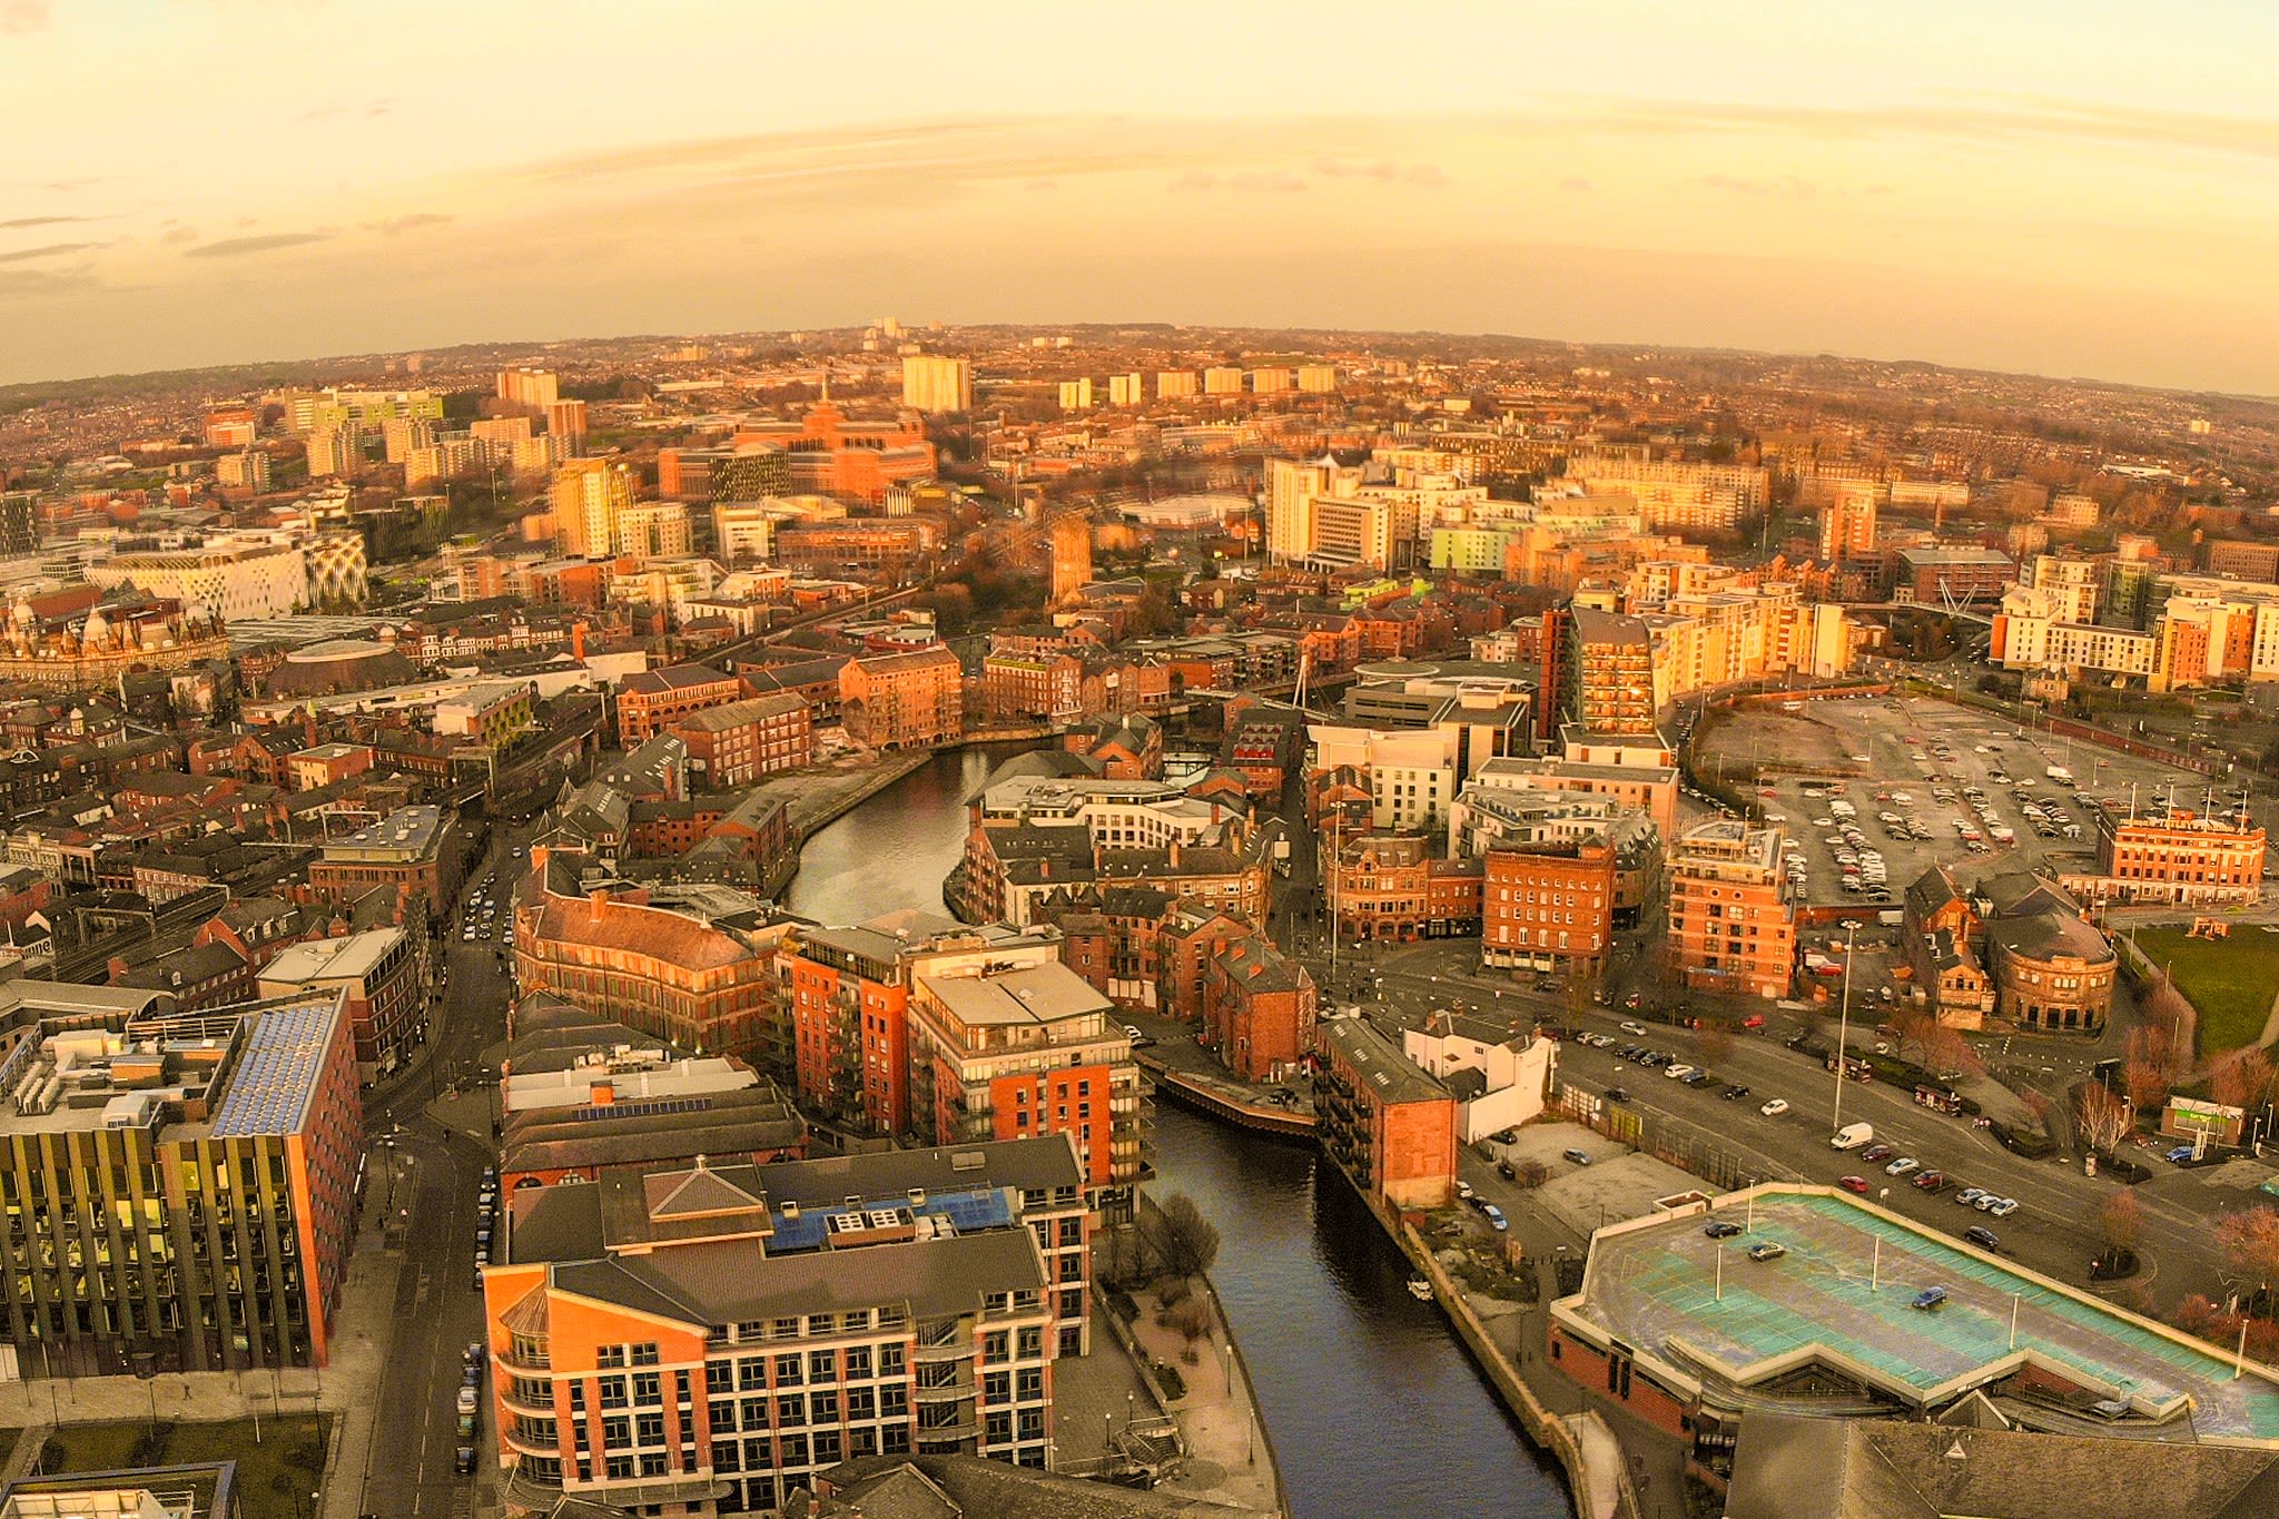
<svg viewBox="0 0 2279 1519"><path fill-rule="evenodd" d="M1046 1467L1085 1239L1067 1141L529 1191L483 1280L506 1508L766 1512L864 1455Z"/></svg>

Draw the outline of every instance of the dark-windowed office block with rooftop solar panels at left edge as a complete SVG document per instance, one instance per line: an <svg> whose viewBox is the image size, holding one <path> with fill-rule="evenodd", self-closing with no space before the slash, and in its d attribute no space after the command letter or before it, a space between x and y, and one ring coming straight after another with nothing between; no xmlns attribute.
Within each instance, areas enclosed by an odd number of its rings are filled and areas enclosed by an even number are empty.
<svg viewBox="0 0 2279 1519"><path fill-rule="evenodd" d="M175 1013L9 982L0 1032L18 1376L324 1366L362 1157L342 991Z"/></svg>

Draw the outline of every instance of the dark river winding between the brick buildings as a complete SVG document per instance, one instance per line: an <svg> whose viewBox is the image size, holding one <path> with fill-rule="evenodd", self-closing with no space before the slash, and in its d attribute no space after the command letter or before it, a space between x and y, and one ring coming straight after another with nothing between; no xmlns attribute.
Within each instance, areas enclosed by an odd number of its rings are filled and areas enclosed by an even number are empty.
<svg viewBox="0 0 2279 1519"><path fill-rule="evenodd" d="M857 922L941 909L964 852L964 797L996 758L934 756L800 852L791 909ZM1456 1344L1406 1291L1408 1268L1310 1146L1155 1109L1158 1196L1219 1225L1210 1271L1251 1366L1294 1519L1570 1514L1538 1455Z"/></svg>

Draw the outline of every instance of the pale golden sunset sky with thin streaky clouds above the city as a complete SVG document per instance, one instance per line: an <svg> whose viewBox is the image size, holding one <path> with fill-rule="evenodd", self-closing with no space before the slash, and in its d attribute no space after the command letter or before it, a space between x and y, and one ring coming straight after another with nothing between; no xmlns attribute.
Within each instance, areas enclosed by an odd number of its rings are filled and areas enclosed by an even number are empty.
<svg viewBox="0 0 2279 1519"><path fill-rule="evenodd" d="M0 0L0 380L896 314L2274 394L2274 61L2229 2Z"/></svg>

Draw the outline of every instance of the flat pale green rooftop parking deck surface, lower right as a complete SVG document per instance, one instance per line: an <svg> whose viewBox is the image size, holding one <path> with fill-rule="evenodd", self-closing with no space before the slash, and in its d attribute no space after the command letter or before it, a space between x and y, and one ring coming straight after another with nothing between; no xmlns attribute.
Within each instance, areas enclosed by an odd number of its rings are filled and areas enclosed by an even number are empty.
<svg viewBox="0 0 2279 1519"><path fill-rule="evenodd" d="M1600 1230L1584 1289L1552 1305L1554 1321L1591 1341L1618 1339L1680 1382L1748 1387L1821 1364L1917 1407L2033 1362L2142 1419L2190 1412L2197 1439L2279 1446L2279 1371L2261 1362L2233 1378L2233 1360L2213 1346L1830 1189L1753 1196L1755 1207L1750 1193L1727 1193L1714 1214ZM1702 1234L1709 1218L1750 1232L1714 1241ZM1762 1241L1789 1253L1750 1262L1746 1248ZM1946 1305L1912 1307L1926 1287L1944 1287Z"/></svg>

